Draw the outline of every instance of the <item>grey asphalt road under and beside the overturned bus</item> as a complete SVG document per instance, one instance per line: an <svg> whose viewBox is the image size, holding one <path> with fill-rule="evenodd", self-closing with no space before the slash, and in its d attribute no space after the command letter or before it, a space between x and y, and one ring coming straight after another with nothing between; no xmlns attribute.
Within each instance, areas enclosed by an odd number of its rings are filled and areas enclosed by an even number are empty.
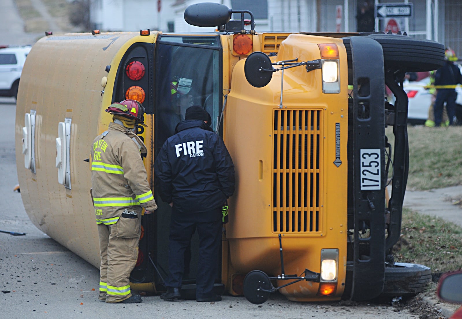
<svg viewBox="0 0 462 319"><path fill-rule="evenodd" d="M407 309L368 303L294 303L274 294L263 305L224 296L216 303L167 302L143 297L140 304L97 300L98 269L39 231L13 192L18 184L14 152L15 101L0 98L0 318L417 318ZM22 163L22 159L18 159ZM46 190L43 190L46 191ZM365 282L365 284L367 284Z"/></svg>

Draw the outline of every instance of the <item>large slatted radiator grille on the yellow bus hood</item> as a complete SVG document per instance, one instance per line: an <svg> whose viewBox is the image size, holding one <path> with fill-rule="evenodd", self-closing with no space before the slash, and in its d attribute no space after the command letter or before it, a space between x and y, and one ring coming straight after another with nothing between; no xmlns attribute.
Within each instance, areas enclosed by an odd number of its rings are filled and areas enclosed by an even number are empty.
<svg viewBox="0 0 462 319"><path fill-rule="evenodd" d="M275 110L273 232L322 232L321 110Z"/></svg>

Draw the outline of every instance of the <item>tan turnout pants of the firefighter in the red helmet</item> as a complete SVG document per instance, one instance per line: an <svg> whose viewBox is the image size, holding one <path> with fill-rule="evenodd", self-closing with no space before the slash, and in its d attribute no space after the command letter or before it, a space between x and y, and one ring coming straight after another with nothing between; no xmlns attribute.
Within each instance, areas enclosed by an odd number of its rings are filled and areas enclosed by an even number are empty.
<svg viewBox="0 0 462 319"><path fill-rule="evenodd" d="M141 207L130 208L138 218L121 217L116 224L98 225L101 266L99 300L116 303L132 294L128 277L138 258L141 232Z"/></svg>

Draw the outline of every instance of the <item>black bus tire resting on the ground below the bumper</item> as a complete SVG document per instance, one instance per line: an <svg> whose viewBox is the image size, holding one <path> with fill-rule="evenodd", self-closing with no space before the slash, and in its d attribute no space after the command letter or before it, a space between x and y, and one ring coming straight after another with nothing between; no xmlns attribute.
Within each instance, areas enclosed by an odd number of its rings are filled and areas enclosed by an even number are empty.
<svg viewBox="0 0 462 319"><path fill-rule="evenodd" d="M381 297L412 297L425 290L432 281L432 270L414 263L395 263L385 267L385 285Z"/></svg>

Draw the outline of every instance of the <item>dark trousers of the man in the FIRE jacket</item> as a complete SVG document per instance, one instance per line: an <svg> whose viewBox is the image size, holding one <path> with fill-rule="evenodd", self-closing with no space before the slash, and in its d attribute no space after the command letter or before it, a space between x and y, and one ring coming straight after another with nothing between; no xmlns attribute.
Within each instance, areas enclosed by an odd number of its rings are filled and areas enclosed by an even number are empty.
<svg viewBox="0 0 462 319"><path fill-rule="evenodd" d="M207 218L209 220L204 221L204 215L212 218ZM184 253L190 245L191 236L197 230L197 234L199 235L199 264L196 279L196 298L207 298L213 295L222 228L220 209L203 214L189 215L180 213L175 210L175 206L173 207L169 236L170 274L165 280L167 287L181 288L184 271Z"/></svg>

